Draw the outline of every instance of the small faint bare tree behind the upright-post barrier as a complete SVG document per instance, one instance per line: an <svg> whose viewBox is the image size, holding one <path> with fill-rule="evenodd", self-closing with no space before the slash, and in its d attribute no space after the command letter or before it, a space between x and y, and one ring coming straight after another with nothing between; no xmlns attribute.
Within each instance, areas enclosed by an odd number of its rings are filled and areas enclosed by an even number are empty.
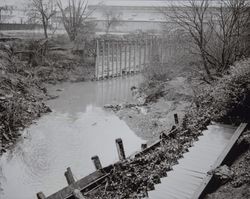
<svg viewBox="0 0 250 199"><path fill-rule="evenodd" d="M103 16L104 16L104 26L106 34L109 33L111 28L120 25L121 22L121 13L109 8L106 5L102 6Z"/></svg>

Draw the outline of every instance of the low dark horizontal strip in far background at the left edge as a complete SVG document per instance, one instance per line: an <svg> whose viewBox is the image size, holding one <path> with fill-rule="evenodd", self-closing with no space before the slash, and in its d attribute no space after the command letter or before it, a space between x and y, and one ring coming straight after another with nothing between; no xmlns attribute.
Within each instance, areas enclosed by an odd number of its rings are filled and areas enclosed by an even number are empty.
<svg viewBox="0 0 250 199"><path fill-rule="evenodd" d="M34 30L43 28L41 24L0 23L0 30Z"/></svg>

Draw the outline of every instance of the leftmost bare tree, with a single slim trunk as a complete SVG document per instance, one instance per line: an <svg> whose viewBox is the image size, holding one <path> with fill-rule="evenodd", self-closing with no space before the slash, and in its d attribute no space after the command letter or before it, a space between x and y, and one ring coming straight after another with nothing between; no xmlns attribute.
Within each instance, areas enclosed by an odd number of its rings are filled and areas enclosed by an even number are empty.
<svg viewBox="0 0 250 199"><path fill-rule="evenodd" d="M50 19L56 14L56 8L51 0L30 0L28 4L29 21L42 23L44 36L48 38L48 26Z"/></svg>

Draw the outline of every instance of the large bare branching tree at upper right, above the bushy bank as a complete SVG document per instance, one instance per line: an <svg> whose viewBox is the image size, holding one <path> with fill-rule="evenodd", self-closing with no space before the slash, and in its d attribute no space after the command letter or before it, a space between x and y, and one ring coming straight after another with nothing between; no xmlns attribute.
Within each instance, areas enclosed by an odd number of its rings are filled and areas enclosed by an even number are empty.
<svg viewBox="0 0 250 199"><path fill-rule="evenodd" d="M188 4L173 5L170 12L163 10L193 39L208 79L212 79L211 69L223 72L244 56L244 35L250 16L246 0L215 3L188 0Z"/></svg>

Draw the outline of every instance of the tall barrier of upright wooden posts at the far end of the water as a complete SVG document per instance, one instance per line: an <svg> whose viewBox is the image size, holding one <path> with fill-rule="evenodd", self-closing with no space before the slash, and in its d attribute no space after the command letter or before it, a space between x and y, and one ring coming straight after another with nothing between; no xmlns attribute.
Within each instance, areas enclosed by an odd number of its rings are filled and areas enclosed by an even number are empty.
<svg viewBox="0 0 250 199"><path fill-rule="evenodd" d="M154 36L140 40L97 40L95 77L99 80L134 74L154 62L163 64L177 48L177 43Z"/></svg>

